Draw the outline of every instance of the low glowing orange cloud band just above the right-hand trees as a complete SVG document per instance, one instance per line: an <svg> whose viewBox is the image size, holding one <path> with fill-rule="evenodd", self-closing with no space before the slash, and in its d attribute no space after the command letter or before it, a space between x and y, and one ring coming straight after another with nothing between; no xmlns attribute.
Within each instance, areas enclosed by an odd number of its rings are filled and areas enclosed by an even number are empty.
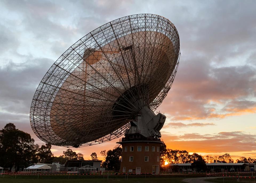
<svg viewBox="0 0 256 183"><path fill-rule="evenodd" d="M162 134L165 144L170 149L185 149L188 152L221 153L255 151L256 135L244 132L220 132L215 135L187 133L176 136L178 140L169 140L169 135ZM173 136L171 136L173 139Z"/></svg>

